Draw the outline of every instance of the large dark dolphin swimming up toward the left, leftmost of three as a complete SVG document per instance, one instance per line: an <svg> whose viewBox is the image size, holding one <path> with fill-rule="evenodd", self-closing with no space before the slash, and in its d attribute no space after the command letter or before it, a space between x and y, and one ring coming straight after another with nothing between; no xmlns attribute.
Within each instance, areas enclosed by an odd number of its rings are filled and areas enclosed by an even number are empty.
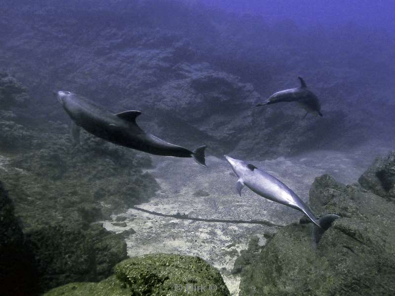
<svg viewBox="0 0 395 296"><path fill-rule="evenodd" d="M145 132L136 124L136 117L141 114L140 111L113 114L77 97L70 91L58 91L57 98L73 120L72 135L77 143L79 143L79 127L82 127L87 132L114 144L155 155L193 157L199 165L206 166L204 159L206 146L190 151Z"/></svg>

